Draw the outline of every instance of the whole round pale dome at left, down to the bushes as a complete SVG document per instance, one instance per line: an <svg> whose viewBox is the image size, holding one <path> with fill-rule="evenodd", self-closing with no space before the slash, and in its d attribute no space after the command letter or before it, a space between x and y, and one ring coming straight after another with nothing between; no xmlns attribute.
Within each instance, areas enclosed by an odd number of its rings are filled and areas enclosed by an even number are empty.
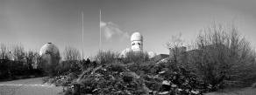
<svg viewBox="0 0 256 95"><path fill-rule="evenodd" d="M58 47L52 43L44 44L39 51L39 56L45 60L47 64L53 63L52 58L60 61L60 51Z"/></svg>

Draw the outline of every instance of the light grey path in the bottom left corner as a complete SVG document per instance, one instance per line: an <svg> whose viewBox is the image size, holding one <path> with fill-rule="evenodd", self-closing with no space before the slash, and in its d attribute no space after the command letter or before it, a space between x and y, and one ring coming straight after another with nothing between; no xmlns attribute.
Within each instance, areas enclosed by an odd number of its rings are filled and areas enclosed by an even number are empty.
<svg viewBox="0 0 256 95"><path fill-rule="evenodd" d="M0 82L0 95L56 95L62 87L43 85L42 78Z"/></svg>

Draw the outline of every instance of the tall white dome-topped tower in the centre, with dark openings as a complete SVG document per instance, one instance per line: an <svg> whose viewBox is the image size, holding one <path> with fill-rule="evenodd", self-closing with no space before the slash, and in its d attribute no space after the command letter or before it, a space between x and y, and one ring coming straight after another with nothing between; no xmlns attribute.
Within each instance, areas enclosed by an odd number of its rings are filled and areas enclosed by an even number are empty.
<svg viewBox="0 0 256 95"><path fill-rule="evenodd" d="M139 32L134 32L131 37L132 51L143 51L143 37Z"/></svg>

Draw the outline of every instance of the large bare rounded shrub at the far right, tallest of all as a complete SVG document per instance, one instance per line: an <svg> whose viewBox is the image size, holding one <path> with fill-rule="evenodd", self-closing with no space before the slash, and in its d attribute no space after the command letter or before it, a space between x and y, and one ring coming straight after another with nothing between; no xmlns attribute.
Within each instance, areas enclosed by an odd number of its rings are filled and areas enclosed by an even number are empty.
<svg viewBox="0 0 256 95"><path fill-rule="evenodd" d="M244 86L255 78L255 52L235 27L213 24L197 37L196 49L188 53L189 67L216 89Z"/></svg>

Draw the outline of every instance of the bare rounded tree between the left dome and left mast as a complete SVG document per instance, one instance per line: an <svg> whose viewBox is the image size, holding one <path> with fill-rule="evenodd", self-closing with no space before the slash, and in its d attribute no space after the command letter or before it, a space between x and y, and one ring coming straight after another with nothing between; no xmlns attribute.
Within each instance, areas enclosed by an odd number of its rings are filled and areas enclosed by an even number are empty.
<svg viewBox="0 0 256 95"><path fill-rule="evenodd" d="M80 60L81 59L81 54L80 52L75 49L74 47L66 47L65 50L63 51L64 54L64 59L65 60Z"/></svg>

